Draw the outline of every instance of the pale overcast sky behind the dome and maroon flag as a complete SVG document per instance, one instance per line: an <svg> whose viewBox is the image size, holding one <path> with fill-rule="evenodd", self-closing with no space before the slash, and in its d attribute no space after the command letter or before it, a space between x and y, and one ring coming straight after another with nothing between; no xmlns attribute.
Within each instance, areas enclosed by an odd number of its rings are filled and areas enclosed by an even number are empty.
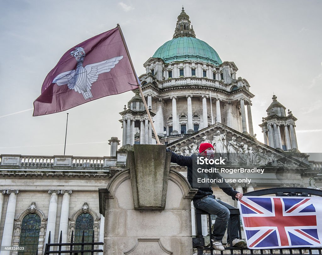
<svg viewBox="0 0 322 255"><path fill-rule="evenodd" d="M66 1L0 0L0 154L109 156L111 136L122 140L121 116L133 92L32 117L47 73L74 45L119 23L138 75L143 63L172 39L184 4L196 37L255 94L252 118L266 116L273 92L298 118L301 152L322 152L322 1Z"/></svg>

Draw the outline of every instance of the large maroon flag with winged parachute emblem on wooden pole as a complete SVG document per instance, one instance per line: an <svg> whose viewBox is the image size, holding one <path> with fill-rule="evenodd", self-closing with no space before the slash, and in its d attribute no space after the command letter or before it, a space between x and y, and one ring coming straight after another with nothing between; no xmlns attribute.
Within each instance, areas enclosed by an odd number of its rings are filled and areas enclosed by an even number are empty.
<svg viewBox="0 0 322 255"><path fill-rule="evenodd" d="M62 56L33 102L33 116L137 88L137 76L118 28L94 36Z"/></svg>

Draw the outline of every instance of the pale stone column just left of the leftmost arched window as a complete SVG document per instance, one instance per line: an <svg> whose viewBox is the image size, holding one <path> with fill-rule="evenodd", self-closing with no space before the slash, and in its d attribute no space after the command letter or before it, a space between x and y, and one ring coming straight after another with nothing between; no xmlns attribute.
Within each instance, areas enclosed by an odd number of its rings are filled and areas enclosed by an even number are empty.
<svg viewBox="0 0 322 255"><path fill-rule="evenodd" d="M11 246L12 241L12 233L14 231L14 213L16 210L16 201L17 194L19 190L7 190L7 194L9 194L7 212L5 214L5 226L3 229L3 236L1 246ZM1 255L9 255L10 251L1 251Z"/></svg>

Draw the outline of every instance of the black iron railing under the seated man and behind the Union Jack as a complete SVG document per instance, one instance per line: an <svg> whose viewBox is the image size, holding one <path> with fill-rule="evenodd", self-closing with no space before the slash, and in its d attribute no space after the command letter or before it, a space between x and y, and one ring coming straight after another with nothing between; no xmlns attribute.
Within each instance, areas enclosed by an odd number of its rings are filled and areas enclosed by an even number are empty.
<svg viewBox="0 0 322 255"><path fill-rule="evenodd" d="M317 196L322 197L322 190L318 189L308 189L308 188L271 188L271 189L260 189L245 193L247 196L265 196L265 195L275 195L277 197L309 197ZM201 215L207 215L208 231L210 237L210 244L206 245L204 236L202 234L202 221ZM230 215L237 215L240 221L239 209L230 209ZM216 251L213 249L212 243L212 221L211 215L203 210L195 209L195 220L196 220L196 235L192 238L193 248L197 249L198 255L205 254L322 254L322 247L301 247L301 248L283 248L283 249L259 249L251 250L245 245L244 247L232 247L232 239L230 238L230 247L225 247L225 251ZM242 239L242 226L238 224L239 238ZM231 221L228 221L228 229L231 229ZM229 231L231 233L231 231ZM208 247L209 246L209 247Z"/></svg>

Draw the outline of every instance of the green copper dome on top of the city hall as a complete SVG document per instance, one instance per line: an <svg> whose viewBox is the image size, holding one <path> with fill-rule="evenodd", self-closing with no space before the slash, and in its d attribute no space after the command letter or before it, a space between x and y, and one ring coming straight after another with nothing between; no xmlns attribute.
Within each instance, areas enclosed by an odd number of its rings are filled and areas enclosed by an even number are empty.
<svg viewBox="0 0 322 255"><path fill-rule="evenodd" d="M167 41L152 57L162 58L166 63L182 60L200 60L216 66L223 63L217 52L206 42L186 36Z"/></svg>

